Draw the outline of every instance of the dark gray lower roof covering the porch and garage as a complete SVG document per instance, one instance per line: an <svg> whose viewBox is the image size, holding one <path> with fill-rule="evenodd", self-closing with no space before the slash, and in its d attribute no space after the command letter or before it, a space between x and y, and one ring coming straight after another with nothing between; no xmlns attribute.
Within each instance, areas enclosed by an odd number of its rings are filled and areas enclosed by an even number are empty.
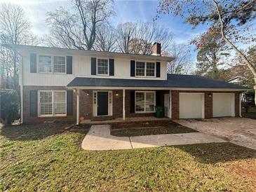
<svg viewBox="0 0 256 192"><path fill-rule="evenodd" d="M76 77L67 86L247 89L234 83L227 83L202 76L180 74L168 74L167 80Z"/></svg>

